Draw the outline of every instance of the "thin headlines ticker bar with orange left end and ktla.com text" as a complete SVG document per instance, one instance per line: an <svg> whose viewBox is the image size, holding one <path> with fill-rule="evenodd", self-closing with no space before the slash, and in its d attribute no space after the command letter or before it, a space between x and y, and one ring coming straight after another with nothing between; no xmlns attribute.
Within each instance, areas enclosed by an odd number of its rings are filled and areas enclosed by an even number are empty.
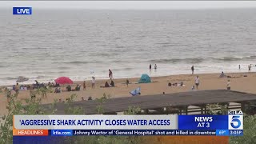
<svg viewBox="0 0 256 144"><path fill-rule="evenodd" d="M215 135L242 136L243 130L14 130L14 136L154 136L154 135Z"/></svg>

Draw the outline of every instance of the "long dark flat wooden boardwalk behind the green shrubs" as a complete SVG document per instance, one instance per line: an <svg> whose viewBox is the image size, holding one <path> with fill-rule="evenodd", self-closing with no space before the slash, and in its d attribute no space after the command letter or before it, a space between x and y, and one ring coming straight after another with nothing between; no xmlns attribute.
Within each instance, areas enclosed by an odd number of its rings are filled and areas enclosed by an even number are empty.
<svg viewBox="0 0 256 144"><path fill-rule="evenodd" d="M102 109L104 114L115 114L116 112L122 112L128 110L129 106L138 106L142 110L160 110L163 109L186 109L188 106L199 106L206 113L206 104L214 103L230 103L238 102L241 103L241 109L246 102L256 101L256 94L247 94L232 90L201 90L182 92L175 94L156 94L156 95L145 95L135 96L126 98L110 98L102 103ZM98 114L97 106L100 103L96 100L93 101L80 101L72 102L71 106L81 106L85 114ZM47 107L49 105L44 105ZM57 103L56 114L65 114L65 104L60 102ZM182 111L180 111L181 113ZM173 114L168 110L162 114Z"/></svg>

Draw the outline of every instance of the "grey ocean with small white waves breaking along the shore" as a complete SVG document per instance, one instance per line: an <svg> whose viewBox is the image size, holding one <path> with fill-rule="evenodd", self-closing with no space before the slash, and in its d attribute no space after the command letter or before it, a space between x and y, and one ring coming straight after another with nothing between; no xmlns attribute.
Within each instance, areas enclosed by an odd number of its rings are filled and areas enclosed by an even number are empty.
<svg viewBox="0 0 256 144"><path fill-rule="evenodd" d="M0 85L243 72L256 64L256 9L0 9ZM157 64L157 70L149 65ZM238 70L241 65L241 70ZM256 68L252 68L255 71Z"/></svg>

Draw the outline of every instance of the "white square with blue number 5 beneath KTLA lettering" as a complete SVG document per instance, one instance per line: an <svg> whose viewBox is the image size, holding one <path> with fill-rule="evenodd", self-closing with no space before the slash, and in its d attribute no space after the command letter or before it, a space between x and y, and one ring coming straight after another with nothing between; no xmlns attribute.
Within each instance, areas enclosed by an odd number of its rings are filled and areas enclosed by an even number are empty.
<svg viewBox="0 0 256 144"><path fill-rule="evenodd" d="M229 130L243 130L243 115L229 115Z"/></svg>

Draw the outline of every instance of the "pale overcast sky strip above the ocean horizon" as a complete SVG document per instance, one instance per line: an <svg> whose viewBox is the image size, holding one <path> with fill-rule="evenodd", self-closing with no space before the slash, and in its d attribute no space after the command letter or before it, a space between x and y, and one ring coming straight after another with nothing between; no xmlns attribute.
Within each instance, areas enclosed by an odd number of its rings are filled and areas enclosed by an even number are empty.
<svg viewBox="0 0 256 144"><path fill-rule="evenodd" d="M2 1L0 7L31 6L33 8L83 8L83 9L210 9L210 8L256 8L253 1L55 1L14 2Z"/></svg>

